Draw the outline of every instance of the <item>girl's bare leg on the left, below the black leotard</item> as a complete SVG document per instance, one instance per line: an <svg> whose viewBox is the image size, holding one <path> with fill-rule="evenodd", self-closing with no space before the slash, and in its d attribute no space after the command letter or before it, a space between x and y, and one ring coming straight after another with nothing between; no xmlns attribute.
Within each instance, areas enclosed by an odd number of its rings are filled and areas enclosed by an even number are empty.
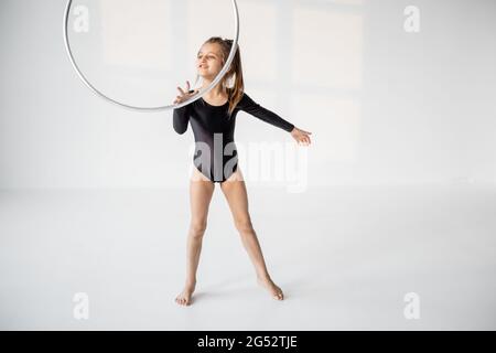
<svg viewBox="0 0 496 353"><path fill-rule="evenodd" d="M183 291L175 298L175 301L182 306L191 303L191 297L195 290L196 269L214 189L214 183L194 168L190 180L191 223L186 244L186 282Z"/></svg>

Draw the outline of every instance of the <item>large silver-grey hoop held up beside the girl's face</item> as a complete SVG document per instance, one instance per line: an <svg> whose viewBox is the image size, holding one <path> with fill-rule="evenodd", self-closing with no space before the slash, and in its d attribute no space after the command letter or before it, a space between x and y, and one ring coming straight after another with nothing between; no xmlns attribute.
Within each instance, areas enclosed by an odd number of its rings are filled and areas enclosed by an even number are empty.
<svg viewBox="0 0 496 353"><path fill-rule="evenodd" d="M100 90L98 90L95 86L93 86L88 79L85 77L85 75L83 75L83 73L79 69L79 66L77 66L76 61L74 60L73 56L73 52L71 51L71 45L68 43L68 33L67 33L67 25L68 25L68 17L69 17L69 12L71 12L71 4L73 3L73 0L68 0L67 1L67 6L65 9L65 14L64 14L64 23L63 23L63 28L64 28L64 43L65 43L65 50L67 52L67 55L71 60L71 64L73 65L74 69L76 71L77 75L79 76L79 78L83 81L83 83L89 88L91 89L97 96L104 98L107 101L110 101L112 104L116 104L120 107L127 108L127 109L131 109L131 110L138 110L138 111L161 111L161 110L169 110L169 109L176 109L176 108L181 108L183 106L188 105L192 101L195 101L197 99L200 99L204 94L208 93L212 88L215 87L215 85L217 85L220 79L223 79L224 75L226 74L226 72L228 71L235 55L236 55L236 50L238 47L238 39L239 39L239 11L238 11L238 4L236 2L236 0L231 0L233 3L233 9L234 9L234 15L235 15L235 28L236 28L236 33L235 33L235 38L233 40L233 46L230 49L230 53L229 56L227 57L227 62L224 65L223 69L220 69L220 72L217 74L217 76L215 77L215 79L205 88L200 89L198 93L184 100L183 103L180 103L177 105L168 105L168 106L159 106L159 107L137 107L137 106L130 106L127 104L123 104L121 101L118 101L116 99L112 99L110 97L107 97L105 94L103 94Z"/></svg>

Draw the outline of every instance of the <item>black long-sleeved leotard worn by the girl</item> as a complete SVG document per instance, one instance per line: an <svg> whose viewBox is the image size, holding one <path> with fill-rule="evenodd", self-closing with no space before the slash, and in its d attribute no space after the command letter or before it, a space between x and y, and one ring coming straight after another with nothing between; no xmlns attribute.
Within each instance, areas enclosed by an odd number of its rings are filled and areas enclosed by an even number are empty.
<svg viewBox="0 0 496 353"><path fill-rule="evenodd" d="M191 122L195 137L193 163L213 182L227 180L238 167L234 132L239 110L289 132L294 128L291 122L255 103L246 93L230 117L228 108L228 101L213 106L200 98L173 113L173 127L177 133L184 133L187 122Z"/></svg>

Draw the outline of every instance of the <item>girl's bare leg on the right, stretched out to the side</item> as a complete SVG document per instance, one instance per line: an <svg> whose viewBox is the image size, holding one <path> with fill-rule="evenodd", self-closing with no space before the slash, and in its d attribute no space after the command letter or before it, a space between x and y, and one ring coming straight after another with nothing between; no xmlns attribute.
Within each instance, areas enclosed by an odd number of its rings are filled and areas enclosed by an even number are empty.
<svg viewBox="0 0 496 353"><path fill-rule="evenodd" d="M258 284L267 288L274 299L282 300L282 290L269 276L257 234L251 224L248 212L248 195L239 165L228 180L220 183L220 189L229 204L242 245L255 266Z"/></svg>

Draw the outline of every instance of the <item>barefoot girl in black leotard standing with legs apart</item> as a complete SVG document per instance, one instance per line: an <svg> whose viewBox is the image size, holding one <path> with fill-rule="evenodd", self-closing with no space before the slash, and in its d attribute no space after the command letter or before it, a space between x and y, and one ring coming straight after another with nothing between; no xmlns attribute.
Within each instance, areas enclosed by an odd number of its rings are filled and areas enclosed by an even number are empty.
<svg viewBox="0 0 496 353"><path fill-rule="evenodd" d="M203 78L203 87L208 86L224 67L233 41L218 36L208 39L197 54L197 78ZM196 286L203 235L207 224L208 205L215 182L229 204L235 226L242 244L255 266L257 281L278 300L283 299L282 290L272 281L262 256L260 244L251 224L248 212L248 197L241 171L238 167L234 130L236 115L244 110L268 124L288 132L300 145L310 145L311 132L300 130L274 113L256 104L245 92L239 47L234 61L223 79L204 97L184 107L174 109L173 127L177 133L184 133L191 124L195 137L194 165L190 181L191 224L186 245L186 281L184 289L175 298L182 306L192 302ZM174 104L182 103L195 95L177 87L179 95Z"/></svg>

